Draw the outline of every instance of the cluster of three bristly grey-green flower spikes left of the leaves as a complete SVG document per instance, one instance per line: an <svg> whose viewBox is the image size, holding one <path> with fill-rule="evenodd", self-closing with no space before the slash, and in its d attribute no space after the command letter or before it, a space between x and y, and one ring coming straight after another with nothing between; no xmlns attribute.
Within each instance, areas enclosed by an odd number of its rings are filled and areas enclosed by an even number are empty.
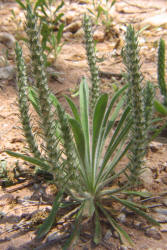
<svg viewBox="0 0 167 250"><path fill-rule="evenodd" d="M50 91L48 87L48 80L46 74L45 56L40 45L40 32L37 26L38 20L36 14L33 12L32 6L27 1L26 12L26 33L28 37L28 44L31 52L32 71L34 79L34 87L36 89L36 102L38 103L38 115L40 120L40 127L42 128L43 146L40 150L37 146L36 137L33 134L31 118L29 115L29 100L28 100L28 82L26 77L26 67L22 56L22 49L19 44L16 44L16 61L17 61L17 82L18 82L18 102L21 114L21 122L25 138L28 142L29 150L33 156L44 162L47 162L49 169L44 169L52 173L55 180L61 178L60 169L62 166L60 149L60 140L56 136L57 123L55 120L55 110L53 109L52 101L50 99ZM69 125L65 117L65 112L58 106L57 114L60 116L63 143L66 145L66 153L68 154L68 161L72 164L72 156L68 152L71 148L71 139L69 132ZM70 143L68 143L68 142ZM70 144L70 145L69 145ZM65 176L63 176L65 177ZM65 178L64 178L65 179ZM61 181L58 181L61 183Z"/></svg>

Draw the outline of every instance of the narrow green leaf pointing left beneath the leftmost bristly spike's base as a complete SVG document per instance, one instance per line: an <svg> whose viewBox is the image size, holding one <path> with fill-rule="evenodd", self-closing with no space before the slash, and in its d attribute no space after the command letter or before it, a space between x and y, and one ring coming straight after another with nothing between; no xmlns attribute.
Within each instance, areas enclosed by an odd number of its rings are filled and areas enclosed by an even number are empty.
<svg viewBox="0 0 167 250"><path fill-rule="evenodd" d="M37 158L33 158L33 157L30 157L30 156L27 156L27 155L23 155L23 154L19 154L19 153L15 153L15 152L12 152L12 151L9 151L9 150L6 150L5 151L7 154L11 155L11 156L14 156L16 158L20 158L22 160L25 160L25 161L28 161L34 165L37 165L45 170L49 169L50 166L46 163L44 163L42 160L39 160Z"/></svg>

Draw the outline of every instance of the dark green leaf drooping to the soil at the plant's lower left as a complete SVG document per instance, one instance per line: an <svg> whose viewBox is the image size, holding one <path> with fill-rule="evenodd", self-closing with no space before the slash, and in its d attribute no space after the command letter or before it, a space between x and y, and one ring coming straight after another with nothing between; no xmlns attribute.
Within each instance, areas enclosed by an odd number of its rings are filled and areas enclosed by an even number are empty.
<svg viewBox="0 0 167 250"><path fill-rule="evenodd" d="M52 210L51 210L49 216L46 218L44 223L40 226L39 230L37 231L37 237L36 237L37 239L41 239L51 229L51 227L55 221L55 217L56 217L57 211L59 209L59 206L60 206L60 203L61 203L61 200L63 197L63 193L64 193L64 190L62 189L56 195L56 199L53 203L53 207L52 207Z"/></svg>

